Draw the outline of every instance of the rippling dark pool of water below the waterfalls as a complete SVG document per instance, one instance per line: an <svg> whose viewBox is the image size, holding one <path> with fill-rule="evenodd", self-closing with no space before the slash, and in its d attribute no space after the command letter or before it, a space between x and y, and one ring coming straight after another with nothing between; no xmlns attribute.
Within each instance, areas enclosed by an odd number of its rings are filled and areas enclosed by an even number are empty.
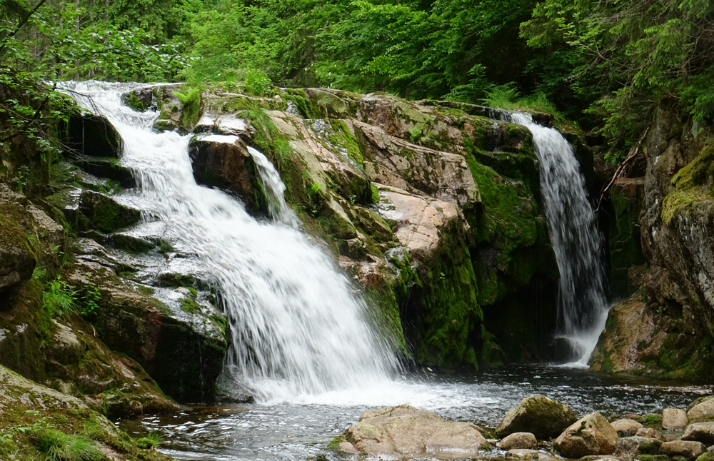
<svg viewBox="0 0 714 461"><path fill-rule="evenodd" d="M405 379L379 389L331 392L294 401L193 407L177 415L121 420L134 435L159 432L161 450L179 460L336 459L324 447L361 412L409 403L453 420L495 427L503 414L533 394L553 397L578 415L658 412L685 408L709 387L651 378L616 377L578 368L513 366L473 375ZM338 404L338 402L345 402Z"/></svg>

